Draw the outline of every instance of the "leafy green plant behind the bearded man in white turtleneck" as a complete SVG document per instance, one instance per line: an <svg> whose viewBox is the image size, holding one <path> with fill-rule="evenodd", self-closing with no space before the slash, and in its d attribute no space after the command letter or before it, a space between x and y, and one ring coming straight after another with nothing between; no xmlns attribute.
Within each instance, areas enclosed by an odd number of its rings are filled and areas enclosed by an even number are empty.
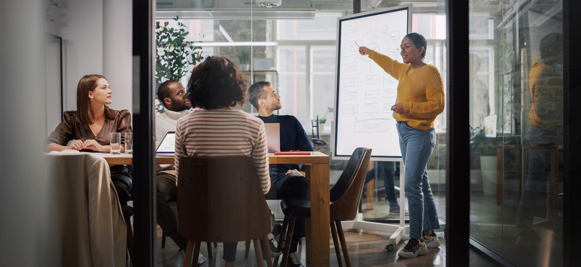
<svg viewBox="0 0 581 267"><path fill-rule="evenodd" d="M180 17L176 16L174 18L175 21L178 21L178 27L168 27L168 21L163 25L159 21L155 23L155 40L157 44L155 78L157 86L167 80L180 81L187 74L189 66L203 60L202 48L193 46L192 42L186 41L189 34L187 26L178 19ZM156 104L155 110L162 113L163 105Z"/></svg>

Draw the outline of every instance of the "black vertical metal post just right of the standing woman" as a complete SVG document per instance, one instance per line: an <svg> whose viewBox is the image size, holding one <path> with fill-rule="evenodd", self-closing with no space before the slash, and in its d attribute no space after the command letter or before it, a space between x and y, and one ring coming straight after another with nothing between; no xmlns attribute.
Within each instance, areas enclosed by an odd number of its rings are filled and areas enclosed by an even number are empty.
<svg viewBox="0 0 581 267"><path fill-rule="evenodd" d="M468 266L470 214L468 1L446 2L446 265Z"/></svg>

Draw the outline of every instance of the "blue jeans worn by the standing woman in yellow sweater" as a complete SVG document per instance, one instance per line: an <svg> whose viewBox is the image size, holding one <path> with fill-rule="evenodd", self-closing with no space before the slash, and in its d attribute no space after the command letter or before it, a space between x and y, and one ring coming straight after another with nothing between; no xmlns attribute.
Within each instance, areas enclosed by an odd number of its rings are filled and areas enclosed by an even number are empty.
<svg viewBox="0 0 581 267"><path fill-rule="evenodd" d="M436 145L434 128L415 129L407 122L397 122L401 156L405 164L404 192L410 212L410 238L422 239L423 230L440 229L436 202L428 182L428 160Z"/></svg>

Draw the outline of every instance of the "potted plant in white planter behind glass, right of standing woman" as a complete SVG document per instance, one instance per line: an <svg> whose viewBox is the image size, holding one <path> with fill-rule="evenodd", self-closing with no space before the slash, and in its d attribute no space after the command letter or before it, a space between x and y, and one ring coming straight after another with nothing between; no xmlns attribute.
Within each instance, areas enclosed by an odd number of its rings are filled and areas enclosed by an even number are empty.
<svg viewBox="0 0 581 267"><path fill-rule="evenodd" d="M484 128L470 128L470 151L479 157L483 194L496 194L496 138L487 138Z"/></svg>

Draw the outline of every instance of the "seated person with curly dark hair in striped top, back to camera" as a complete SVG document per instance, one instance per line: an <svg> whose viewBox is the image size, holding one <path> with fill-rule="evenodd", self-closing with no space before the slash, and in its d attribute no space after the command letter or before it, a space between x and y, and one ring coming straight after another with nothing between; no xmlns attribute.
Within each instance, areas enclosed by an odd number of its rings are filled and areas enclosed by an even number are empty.
<svg viewBox="0 0 581 267"><path fill-rule="evenodd" d="M188 83L192 106L202 110L184 115L175 132L175 173L180 181L181 157L236 156L252 158L264 194L270 190L268 146L264 122L236 104L246 102L248 84L225 57L209 56L194 67ZM236 181L232 181L236 182ZM225 266L234 266L236 242L224 243Z"/></svg>

